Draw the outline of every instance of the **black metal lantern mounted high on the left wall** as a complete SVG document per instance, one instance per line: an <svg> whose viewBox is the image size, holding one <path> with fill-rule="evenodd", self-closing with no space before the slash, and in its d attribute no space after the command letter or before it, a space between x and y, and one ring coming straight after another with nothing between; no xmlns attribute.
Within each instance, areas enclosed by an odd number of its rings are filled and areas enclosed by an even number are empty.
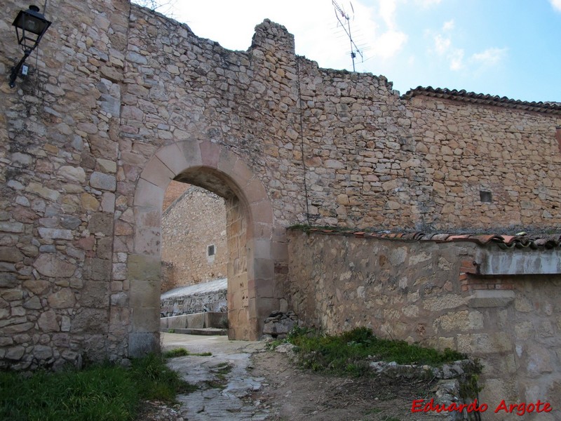
<svg viewBox="0 0 561 421"><path fill-rule="evenodd" d="M18 77L23 63L39 45L39 41L50 26L48 20L42 13L39 13L37 6L29 6L27 11L20 11L15 17L12 26L15 26L15 33L18 35L18 44L22 47L23 58L18 65L12 67L10 74L10 88L15 86L15 79Z"/></svg>

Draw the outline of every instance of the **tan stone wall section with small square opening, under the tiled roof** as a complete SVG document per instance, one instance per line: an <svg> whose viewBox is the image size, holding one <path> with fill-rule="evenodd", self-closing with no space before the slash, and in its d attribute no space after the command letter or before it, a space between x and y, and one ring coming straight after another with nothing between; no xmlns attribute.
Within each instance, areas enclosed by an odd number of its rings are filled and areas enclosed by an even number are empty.
<svg viewBox="0 0 561 421"><path fill-rule="evenodd" d="M534 112L452 100L410 101L417 154L410 171L423 173L428 187L412 203L420 222L436 229L495 232L559 227L559 116L544 119ZM489 192L490 201L482 201L480 192ZM399 196L405 199L403 192Z"/></svg>

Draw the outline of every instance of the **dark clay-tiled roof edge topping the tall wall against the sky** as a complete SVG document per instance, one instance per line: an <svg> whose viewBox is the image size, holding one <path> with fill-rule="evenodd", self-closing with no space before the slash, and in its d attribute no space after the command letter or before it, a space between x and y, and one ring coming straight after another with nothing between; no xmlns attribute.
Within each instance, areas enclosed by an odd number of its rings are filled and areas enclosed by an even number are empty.
<svg viewBox="0 0 561 421"><path fill-rule="evenodd" d="M526 111L544 112L547 114L561 115L560 102L527 102L520 100L511 100L506 97L499 97L499 95L487 95L484 93L467 92L465 90L457 91L456 89L441 89L428 86L417 88L407 91L402 98L406 100L414 96L423 95L433 98L444 98L447 100L457 100L462 102L471 102L475 104L494 105L495 107L506 107L515 109L524 109Z"/></svg>

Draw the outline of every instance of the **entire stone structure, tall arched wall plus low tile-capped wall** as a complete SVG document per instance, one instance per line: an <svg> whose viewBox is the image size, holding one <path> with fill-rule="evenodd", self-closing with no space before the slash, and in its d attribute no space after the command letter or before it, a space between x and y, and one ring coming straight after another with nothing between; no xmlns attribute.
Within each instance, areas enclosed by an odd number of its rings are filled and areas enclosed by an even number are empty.
<svg viewBox="0 0 561 421"><path fill-rule="evenodd" d="M0 25L2 366L157 347L176 180L224 198L230 338L295 309L327 330L481 356L489 406L561 408L558 238L495 235L560 230L559 104L400 95L298 57L269 20L248 51L227 51L128 0L50 1L53 25L11 89L25 7L5 1Z"/></svg>

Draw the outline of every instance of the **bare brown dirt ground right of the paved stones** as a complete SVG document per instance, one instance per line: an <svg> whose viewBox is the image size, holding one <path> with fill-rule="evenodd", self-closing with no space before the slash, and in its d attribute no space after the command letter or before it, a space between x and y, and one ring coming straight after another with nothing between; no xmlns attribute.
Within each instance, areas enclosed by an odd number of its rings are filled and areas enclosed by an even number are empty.
<svg viewBox="0 0 561 421"><path fill-rule="evenodd" d="M405 421L444 420L411 413L413 399L431 394L431 385L417 380L396 382L388 377L344 378L300 370L285 354L252 356L251 375L264 377L254 399L271 407L267 420Z"/></svg>

